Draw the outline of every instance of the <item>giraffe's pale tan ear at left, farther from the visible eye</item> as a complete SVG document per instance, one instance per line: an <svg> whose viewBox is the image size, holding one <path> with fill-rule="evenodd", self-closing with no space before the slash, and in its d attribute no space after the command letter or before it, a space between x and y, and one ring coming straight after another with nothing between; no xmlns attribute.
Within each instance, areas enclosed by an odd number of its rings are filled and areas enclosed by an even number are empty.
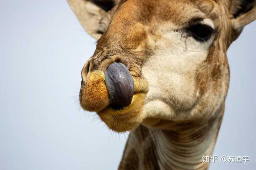
<svg viewBox="0 0 256 170"><path fill-rule="evenodd" d="M99 39L105 29L100 21L115 5L114 0L68 0L68 3L86 32Z"/></svg>

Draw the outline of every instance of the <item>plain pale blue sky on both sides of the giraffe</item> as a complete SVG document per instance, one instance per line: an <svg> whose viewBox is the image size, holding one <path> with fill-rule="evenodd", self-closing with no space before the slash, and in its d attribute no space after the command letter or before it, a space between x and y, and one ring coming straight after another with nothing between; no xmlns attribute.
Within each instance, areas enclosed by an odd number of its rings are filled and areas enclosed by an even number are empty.
<svg viewBox="0 0 256 170"><path fill-rule="evenodd" d="M79 109L80 72L96 40L64 1L9 0L0 6L0 170L117 169L127 134ZM256 22L228 51L231 80L214 155L250 156L255 170Z"/></svg>

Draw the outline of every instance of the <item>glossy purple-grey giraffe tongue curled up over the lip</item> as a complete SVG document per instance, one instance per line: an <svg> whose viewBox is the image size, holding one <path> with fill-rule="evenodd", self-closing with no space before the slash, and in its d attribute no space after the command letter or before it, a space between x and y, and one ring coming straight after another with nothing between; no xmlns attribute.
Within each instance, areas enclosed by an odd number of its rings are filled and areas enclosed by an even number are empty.
<svg viewBox="0 0 256 170"><path fill-rule="evenodd" d="M105 83L110 96L110 107L121 109L129 106L134 93L133 77L122 63L112 63L105 71Z"/></svg>

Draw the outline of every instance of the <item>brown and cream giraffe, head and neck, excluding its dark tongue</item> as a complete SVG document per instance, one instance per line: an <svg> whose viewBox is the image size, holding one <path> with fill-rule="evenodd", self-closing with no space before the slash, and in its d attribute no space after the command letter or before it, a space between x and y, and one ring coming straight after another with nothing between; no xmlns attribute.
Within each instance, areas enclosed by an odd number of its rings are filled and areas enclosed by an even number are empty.
<svg viewBox="0 0 256 170"><path fill-rule="evenodd" d="M119 170L205 170L229 88L226 51L256 19L255 0L68 0L97 39L81 72L80 105L130 131ZM114 109L105 70L132 75L129 106Z"/></svg>

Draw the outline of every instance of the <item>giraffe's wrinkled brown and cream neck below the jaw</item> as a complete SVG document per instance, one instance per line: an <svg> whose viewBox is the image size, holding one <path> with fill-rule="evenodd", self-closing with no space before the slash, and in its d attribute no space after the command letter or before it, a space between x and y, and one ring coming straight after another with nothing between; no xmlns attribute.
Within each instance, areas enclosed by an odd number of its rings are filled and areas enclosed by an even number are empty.
<svg viewBox="0 0 256 170"><path fill-rule="evenodd" d="M165 129L140 125L130 132L119 170L208 169L202 156L212 155L223 112L200 123L162 120Z"/></svg>

